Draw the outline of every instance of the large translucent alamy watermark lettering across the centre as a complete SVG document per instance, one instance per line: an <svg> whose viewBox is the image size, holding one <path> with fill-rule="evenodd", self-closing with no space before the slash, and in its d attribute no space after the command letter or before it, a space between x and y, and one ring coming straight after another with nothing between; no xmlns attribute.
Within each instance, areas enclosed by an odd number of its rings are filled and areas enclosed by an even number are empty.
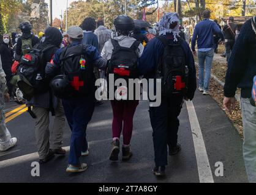
<svg viewBox="0 0 256 195"><path fill-rule="evenodd" d="M156 85L154 84L156 83ZM161 79L114 79L109 74L107 79L97 79L98 87L95 98L101 100L149 100L150 107L161 104Z"/></svg>

